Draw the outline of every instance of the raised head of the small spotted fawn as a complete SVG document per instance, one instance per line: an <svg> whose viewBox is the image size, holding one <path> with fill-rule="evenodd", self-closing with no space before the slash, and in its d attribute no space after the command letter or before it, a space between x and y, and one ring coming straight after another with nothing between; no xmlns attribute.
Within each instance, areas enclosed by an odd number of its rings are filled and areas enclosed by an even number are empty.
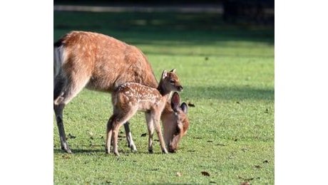
<svg viewBox="0 0 328 185"><path fill-rule="evenodd" d="M183 86L180 85L178 75L175 73L175 69L170 70L170 72L163 70L162 77L160 78L159 88L162 93L183 90Z"/></svg>

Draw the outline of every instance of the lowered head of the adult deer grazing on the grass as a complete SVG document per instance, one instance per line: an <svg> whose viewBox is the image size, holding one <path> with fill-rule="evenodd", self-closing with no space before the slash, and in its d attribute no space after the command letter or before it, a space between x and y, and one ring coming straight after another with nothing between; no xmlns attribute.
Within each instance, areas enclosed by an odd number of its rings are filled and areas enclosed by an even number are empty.
<svg viewBox="0 0 328 185"><path fill-rule="evenodd" d="M162 112L160 120L163 123L163 132L165 144L168 152L175 153L182 137L187 134L189 127L188 105L183 102L180 106L180 96L173 93L170 102L167 102Z"/></svg>

